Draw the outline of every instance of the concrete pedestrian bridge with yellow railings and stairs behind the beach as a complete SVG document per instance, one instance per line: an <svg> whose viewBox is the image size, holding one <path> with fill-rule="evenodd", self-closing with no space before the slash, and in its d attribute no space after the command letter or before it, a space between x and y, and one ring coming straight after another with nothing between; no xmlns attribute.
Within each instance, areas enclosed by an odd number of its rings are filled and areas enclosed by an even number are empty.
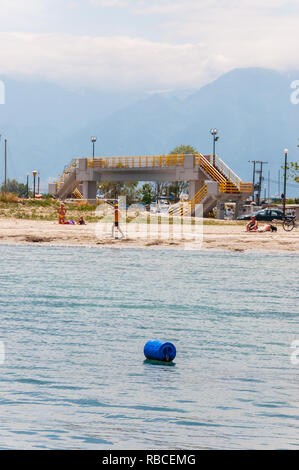
<svg viewBox="0 0 299 470"><path fill-rule="evenodd" d="M69 197L96 200L97 184L103 181L188 181L189 201L183 213L190 215L202 203L204 215L230 200L241 203L252 193L252 184L243 182L217 155L180 154L74 159L49 193L59 199ZM175 205L173 212L181 210Z"/></svg>

